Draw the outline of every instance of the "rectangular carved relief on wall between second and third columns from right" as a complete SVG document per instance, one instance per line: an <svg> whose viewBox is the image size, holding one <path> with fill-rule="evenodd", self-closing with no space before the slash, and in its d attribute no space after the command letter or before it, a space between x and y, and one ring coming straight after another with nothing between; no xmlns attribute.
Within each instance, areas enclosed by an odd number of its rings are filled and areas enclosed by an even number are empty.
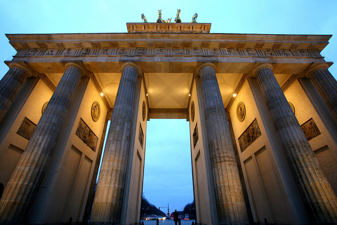
<svg viewBox="0 0 337 225"><path fill-rule="evenodd" d="M261 136L261 131L255 118L238 139L241 152L251 145L259 136Z"/></svg>

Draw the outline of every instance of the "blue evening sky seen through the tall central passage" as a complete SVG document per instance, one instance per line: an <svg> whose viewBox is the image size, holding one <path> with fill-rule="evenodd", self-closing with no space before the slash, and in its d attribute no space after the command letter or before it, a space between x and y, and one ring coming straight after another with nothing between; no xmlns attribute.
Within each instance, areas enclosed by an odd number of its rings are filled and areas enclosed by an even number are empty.
<svg viewBox="0 0 337 225"><path fill-rule="evenodd" d="M192 203L193 183L189 123L186 119L150 119L144 165L143 194L167 215ZM152 215L141 208L141 218Z"/></svg>

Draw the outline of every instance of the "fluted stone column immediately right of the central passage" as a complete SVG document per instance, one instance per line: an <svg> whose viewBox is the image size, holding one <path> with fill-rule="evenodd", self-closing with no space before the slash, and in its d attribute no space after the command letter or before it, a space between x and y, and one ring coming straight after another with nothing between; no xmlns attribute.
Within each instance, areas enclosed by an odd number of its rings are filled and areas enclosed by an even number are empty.
<svg viewBox="0 0 337 225"><path fill-rule="evenodd" d="M213 63L197 69L201 78L208 146L219 224L248 223L234 145Z"/></svg>

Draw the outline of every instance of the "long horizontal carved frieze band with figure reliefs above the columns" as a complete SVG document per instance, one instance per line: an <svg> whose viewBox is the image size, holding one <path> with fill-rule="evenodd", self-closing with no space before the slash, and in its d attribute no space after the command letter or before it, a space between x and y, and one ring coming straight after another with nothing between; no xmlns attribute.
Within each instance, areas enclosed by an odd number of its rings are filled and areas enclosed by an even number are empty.
<svg viewBox="0 0 337 225"><path fill-rule="evenodd" d="M151 48L86 48L86 49L23 49L16 56L231 56L231 57L321 57L316 50L295 49L238 49L238 48L197 48L197 47L161 47Z"/></svg>

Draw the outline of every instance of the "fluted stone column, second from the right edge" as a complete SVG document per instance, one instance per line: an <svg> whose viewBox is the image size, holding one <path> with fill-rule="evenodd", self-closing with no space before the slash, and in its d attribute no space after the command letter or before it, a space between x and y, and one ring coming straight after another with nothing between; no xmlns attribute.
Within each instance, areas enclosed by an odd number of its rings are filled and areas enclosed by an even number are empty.
<svg viewBox="0 0 337 225"><path fill-rule="evenodd" d="M257 65L253 76L262 90L289 167L303 203L315 223L337 222L337 198L273 72L272 65Z"/></svg>

